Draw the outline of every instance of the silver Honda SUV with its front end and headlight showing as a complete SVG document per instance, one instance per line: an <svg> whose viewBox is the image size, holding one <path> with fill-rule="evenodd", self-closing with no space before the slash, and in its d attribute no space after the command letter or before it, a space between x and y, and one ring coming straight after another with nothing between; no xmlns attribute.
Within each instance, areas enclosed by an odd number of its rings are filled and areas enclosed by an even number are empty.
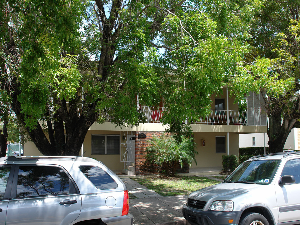
<svg viewBox="0 0 300 225"><path fill-rule="evenodd" d="M300 153L255 156L222 183L188 196L183 215L196 225L300 223Z"/></svg>

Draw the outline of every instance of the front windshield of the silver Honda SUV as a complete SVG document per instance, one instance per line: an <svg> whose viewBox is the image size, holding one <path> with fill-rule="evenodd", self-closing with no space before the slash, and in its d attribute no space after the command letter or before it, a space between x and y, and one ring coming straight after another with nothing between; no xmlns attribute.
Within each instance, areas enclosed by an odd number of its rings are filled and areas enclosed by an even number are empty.
<svg viewBox="0 0 300 225"><path fill-rule="evenodd" d="M269 184L281 160L255 160L242 163L225 182Z"/></svg>

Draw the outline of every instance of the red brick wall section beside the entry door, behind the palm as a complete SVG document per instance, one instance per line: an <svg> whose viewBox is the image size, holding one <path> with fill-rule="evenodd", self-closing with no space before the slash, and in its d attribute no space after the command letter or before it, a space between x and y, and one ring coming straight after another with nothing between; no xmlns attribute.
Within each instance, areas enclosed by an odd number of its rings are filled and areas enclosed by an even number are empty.
<svg viewBox="0 0 300 225"><path fill-rule="evenodd" d="M145 138L139 138L138 135L144 133ZM157 175L162 173L162 168L155 164L150 164L146 162L145 159L145 149L150 143L147 140L151 139L153 135L161 136L162 132L153 131L139 131L135 133L135 173L136 175ZM178 173L188 173L189 165L185 164L183 168L178 168Z"/></svg>

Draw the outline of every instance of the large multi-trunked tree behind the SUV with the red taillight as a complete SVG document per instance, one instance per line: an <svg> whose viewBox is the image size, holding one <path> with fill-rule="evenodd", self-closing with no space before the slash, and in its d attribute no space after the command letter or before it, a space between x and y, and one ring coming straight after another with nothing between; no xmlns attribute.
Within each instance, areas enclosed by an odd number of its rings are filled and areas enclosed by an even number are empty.
<svg viewBox="0 0 300 225"><path fill-rule="evenodd" d="M208 14L214 1L0 2L1 95L44 155L78 155L107 115L116 125L143 122L137 96L145 106L163 97L173 130L197 121L242 69L253 8L222 3L218 19L236 21L226 31Z"/></svg>

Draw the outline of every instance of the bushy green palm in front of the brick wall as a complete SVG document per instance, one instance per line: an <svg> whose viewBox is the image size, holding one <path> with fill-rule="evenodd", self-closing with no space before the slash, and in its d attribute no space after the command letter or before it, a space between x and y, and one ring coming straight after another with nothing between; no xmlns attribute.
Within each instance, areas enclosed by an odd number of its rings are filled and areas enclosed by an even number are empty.
<svg viewBox="0 0 300 225"><path fill-rule="evenodd" d="M176 143L173 136L162 133L161 136L154 135L151 144L145 150L145 158L149 163L160 165L164 168L167 176L172 172L175 176L178 166L183 168L185 163L190 166L195 161L195 156L198 154L194 150L194 142L192 138L182 138L181 143Z"/></svg>

